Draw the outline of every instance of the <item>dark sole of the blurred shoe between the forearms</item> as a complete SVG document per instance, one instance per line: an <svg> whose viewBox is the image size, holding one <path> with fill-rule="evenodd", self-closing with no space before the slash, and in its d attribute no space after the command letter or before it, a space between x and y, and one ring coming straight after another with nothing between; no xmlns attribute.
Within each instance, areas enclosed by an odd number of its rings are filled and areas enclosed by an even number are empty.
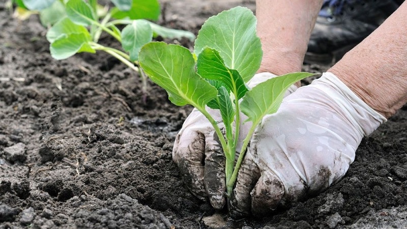
<svg viewBox="0 0 407 229"><path fill-rule="evenodd" d="M355 44L346 45L342 48L334 50L331 53L306 52L304 56L304 64L334 65L353 47L355 47Z"/></svg>

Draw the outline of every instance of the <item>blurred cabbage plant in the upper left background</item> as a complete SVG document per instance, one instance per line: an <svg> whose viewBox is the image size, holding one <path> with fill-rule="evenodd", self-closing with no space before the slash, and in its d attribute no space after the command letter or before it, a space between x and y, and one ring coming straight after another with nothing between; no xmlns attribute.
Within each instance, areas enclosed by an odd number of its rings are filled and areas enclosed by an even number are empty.
<svg viewBox="0 0 407 229"><path fill-rule="evenodd" d="M97 0L13 0L16 14L38 13L41 23L49 27L46 34L54 59L63 60L79 52L95 53L102 50L119 59L138 72L138 52L154 37L182 38L193 41L194 34L173 30L149 20L158 20L158 0L111 0L114 7L101 6ZM123 30L119 27L123 26ZM99 43L105 32L122 45L122 50ZM140 71L143 92L146 92L146 76Z"/></svg>

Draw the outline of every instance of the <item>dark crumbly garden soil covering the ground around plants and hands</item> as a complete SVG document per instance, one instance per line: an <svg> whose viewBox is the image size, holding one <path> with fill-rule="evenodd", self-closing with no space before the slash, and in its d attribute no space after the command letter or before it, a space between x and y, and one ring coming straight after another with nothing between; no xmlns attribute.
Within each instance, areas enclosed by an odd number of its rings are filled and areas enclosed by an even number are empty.
<svg viewBox="0 0 407 229"><path fill-rule="evenodd" d="M191 107L172 105L150 81L144 97L138 74L105 53L53 60L38 18L18 21L4 2L0 228L407 227L407 107L363 139L346 176L325 192L264 219L231 220L194 197L172 162ZM244 0L161 3L160 24L195 34L222 10L255 8Z"/></svg>

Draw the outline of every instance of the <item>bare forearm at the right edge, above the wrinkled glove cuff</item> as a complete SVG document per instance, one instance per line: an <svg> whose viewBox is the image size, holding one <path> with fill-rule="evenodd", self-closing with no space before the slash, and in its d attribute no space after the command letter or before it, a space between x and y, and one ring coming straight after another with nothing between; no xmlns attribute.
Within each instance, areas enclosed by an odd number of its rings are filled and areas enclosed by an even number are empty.
<svg viewBox="0 0 407 229"><path fill-rule="evenodd" d="M370 107L389 118L407 102L407 4L348 52L334 73Z"/></svg>

